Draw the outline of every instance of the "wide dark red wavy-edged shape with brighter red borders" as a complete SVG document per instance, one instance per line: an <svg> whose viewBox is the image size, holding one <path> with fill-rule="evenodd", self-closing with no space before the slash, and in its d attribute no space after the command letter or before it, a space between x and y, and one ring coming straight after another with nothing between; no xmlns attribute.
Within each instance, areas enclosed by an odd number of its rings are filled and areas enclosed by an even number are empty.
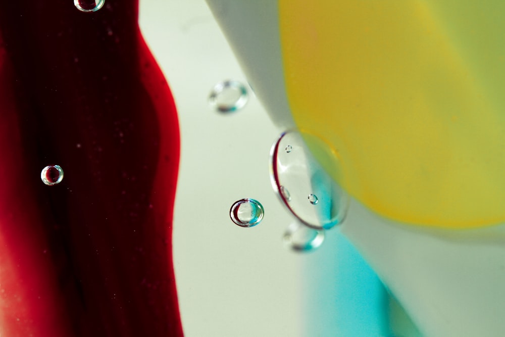
<svg viewBox="0 0 505 337"><path fill-rule="evenodd" d="M179 336L179 128L137 1L0 10L0 335ZM60 165L63 181L40 171Z"/></svg>

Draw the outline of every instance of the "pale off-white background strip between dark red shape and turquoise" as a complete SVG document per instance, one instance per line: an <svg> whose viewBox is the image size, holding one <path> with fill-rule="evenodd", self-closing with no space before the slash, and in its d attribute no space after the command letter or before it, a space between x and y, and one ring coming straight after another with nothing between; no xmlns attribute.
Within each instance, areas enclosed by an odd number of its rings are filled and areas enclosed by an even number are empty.
<svg viewBox="0 0 505 337"><path fill-rule="evenodd" d="M210 108L217 82L247 82L203 0L143 0L140 26L179 112L174 261L186 336L301 336L302 263L324 254L324 247L310 256L283 247L292 219L268 171L270 147L282 130L251 90L234 114ZM265 208L254 228L229 218L242 198Z"/></svg>

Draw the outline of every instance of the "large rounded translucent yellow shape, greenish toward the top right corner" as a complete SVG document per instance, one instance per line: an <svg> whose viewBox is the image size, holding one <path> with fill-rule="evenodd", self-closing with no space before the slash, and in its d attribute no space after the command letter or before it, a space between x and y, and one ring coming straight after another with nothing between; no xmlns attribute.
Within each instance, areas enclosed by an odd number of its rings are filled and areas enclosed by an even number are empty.
<svg viewBox="0 0 505 337"><path fill-rule="evenodd" d="M293 118L351 195L401 222L505 221L504 4L279 0Z"/></svg>

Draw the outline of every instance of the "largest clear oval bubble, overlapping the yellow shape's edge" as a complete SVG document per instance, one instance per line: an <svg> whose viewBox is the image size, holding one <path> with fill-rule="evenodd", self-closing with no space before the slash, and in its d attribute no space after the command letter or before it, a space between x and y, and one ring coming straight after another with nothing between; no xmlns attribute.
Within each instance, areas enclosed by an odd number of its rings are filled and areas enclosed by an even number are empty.
<svg viewBox="0 0 505 337"><path fill-rule="evenodd" d="M296 151L288 152L288 147ZM322 159L324 167L313 153ZM339 170L336 153L322 139L309 133L284 132L270 152L272 187L289 212L314 229L330 229L345 218L349 198L327 173L338 175Z"/></svg>

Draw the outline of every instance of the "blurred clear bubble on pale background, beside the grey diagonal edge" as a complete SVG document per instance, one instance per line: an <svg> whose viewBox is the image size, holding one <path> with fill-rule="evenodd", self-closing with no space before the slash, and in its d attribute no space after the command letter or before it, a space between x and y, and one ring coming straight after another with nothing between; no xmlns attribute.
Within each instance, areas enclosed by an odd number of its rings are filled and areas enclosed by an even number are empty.
<svg viewBox="0 0 505 337"><path fill-rule="evenodd" d="M245 86L238 81L224 81L216 84L209 96L211 107L219 112L233 112L242 109L247 103Z"/></svg>

